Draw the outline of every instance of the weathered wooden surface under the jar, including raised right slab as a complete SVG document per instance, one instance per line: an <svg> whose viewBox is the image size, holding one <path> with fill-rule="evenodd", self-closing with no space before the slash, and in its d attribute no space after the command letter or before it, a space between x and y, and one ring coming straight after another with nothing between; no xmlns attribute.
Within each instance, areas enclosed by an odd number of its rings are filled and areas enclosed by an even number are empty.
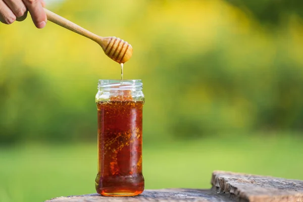
<svg viewBox="0 0 303 202"><path fill-rule="evenodd" d="M303 181L214 171L212 189L145 190L138 196L109 197L99 194L57 197L46 202L210 201L303 202Z"/></svg>

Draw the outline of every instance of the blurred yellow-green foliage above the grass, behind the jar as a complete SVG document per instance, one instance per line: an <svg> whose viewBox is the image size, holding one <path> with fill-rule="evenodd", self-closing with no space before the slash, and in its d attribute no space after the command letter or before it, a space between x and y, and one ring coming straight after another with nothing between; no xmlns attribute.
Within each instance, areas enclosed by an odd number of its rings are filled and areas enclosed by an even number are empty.
<svg viewBox="0 0 303 202"><path fill-rule="evenodd" d="M303 26L296 15L270 29L220 0L55 6L88 30L132 44L125 79L143 80L147 143L302 131ZM0 30L0 142L95 140L97 80L119 79L119 65L51 22L38 30L27 19Z"/></svg>

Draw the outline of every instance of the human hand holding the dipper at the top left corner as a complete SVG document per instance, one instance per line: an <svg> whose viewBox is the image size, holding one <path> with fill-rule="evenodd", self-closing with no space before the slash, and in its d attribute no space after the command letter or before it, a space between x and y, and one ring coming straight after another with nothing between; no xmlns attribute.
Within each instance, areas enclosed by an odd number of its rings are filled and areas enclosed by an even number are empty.
<svg viewBox="0 0 303 202"><path fill-rule="evenodd" d="M8 25L23 21L29 11L35 26L43 28L47 22L44 6L43 0L0 0L0 21Z"/></svg>

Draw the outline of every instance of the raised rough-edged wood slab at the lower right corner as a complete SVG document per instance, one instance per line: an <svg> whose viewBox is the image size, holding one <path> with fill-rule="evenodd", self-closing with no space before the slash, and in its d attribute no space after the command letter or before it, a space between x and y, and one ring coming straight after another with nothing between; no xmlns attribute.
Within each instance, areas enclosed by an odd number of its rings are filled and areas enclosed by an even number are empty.
<svg viewBox="0 0 303 202"><path fill-rule="evenodd" d="M212 189L230 194L238 201L303 202L303 181L252 175L228 171L214 171Z"/></svg>

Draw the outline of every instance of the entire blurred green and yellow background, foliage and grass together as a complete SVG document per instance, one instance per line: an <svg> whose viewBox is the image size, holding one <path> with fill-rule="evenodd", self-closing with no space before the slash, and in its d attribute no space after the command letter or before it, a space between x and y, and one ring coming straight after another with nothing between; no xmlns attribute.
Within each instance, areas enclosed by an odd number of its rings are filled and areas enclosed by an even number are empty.
<svg viewBox="0 0 303 202"><path fill-rule="evenodd" d="M213 170L303 180L303 2L46 1L132 44L142 79L146 188L210 188ZM95 192L93 41L30 18L0 24L0 201Z"/></svg>

